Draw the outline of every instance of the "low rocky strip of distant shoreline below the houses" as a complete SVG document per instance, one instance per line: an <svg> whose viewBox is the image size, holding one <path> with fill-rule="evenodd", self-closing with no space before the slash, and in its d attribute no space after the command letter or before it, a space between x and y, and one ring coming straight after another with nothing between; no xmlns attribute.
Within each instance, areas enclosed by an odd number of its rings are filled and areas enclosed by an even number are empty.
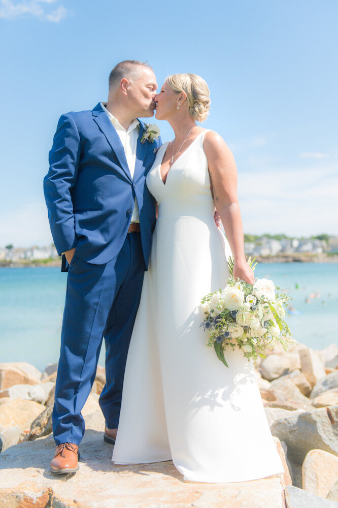
<svg viewBox="0 0 338 508"><path fill-rule="evenodd" d="M253 257L253 256L252 256ZM321 252L279 253L275 256L256 256L258 263L338 263L338 254ZM61 267L60 259L22 260L22 261L0 261L0 268L39 268L39 267Z"/></svg>

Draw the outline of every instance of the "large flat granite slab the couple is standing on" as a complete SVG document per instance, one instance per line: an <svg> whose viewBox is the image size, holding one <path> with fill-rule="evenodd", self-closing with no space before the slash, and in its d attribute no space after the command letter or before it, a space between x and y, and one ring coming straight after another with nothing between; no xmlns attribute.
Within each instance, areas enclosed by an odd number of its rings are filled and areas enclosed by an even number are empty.
<svg viewBox="0 0 338 508"><path fill-rule="evenodd" d="M0 455L0 508L285 506L282 481L277 476L245 483L202 484L184 482L172 461L115 466L113 448L103 441L102 414L92 413L85 422L80 469L75 475L50 474L52 436L20 443Z"/></svg>

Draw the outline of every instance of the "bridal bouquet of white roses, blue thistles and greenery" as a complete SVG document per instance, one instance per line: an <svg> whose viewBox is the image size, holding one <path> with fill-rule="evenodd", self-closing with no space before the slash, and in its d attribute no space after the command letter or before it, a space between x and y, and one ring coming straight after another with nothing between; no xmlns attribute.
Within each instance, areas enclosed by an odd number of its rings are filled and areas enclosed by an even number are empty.
<svg viewBox="0 0 338 508"><path fill-rule="evenodd" d="M254 270L257 263L249 258ZM201 300L205 320L201 326L209 332L208 346L214 346L217 357L226 367L224 351L239 347L255 362L258 355L266 358L267 348L281 343L286 351L293 343L284 321L285 306L290 297L272 280L256 279L248 284L233 276L233 260L229 262L230 277L223 290L210 293Z"/></svg>

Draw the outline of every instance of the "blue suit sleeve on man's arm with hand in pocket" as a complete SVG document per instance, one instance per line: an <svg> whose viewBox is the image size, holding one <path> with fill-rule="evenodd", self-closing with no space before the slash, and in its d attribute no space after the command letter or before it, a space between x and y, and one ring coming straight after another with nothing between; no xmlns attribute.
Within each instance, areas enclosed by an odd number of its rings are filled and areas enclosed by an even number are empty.
<svg viewBox="0 0 338 508"><path fill-rule="evenodd" d="M59 119L49 152L49 171L44 178L48 219L58 254L76 247L72 189L81 153L80 135L71 114Z"/></svg>

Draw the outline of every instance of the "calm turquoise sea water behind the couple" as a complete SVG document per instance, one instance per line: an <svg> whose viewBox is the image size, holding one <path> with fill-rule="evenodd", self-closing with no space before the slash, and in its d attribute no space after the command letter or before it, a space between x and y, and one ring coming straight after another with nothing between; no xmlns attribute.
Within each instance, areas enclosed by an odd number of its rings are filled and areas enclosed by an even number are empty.
<svg viewBox="0 0 338 508"><path fill-rule="evenodd" d="M302 314L288 317L288 323L299 342L314 349L338 343L337 264L259 264L255 274L271 278L294 298L291 304ZM0 269L0 362L25 361L43 370L58 360L65 287L59 268Z"/></svg>

